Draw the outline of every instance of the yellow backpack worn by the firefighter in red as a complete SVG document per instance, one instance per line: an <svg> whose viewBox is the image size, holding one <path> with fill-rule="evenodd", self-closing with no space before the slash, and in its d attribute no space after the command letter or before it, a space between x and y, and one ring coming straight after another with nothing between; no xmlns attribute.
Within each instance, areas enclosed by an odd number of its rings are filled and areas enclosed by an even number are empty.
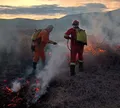
<svg viewBox="0 0 120 108"><path fill-rule="evenodd" d="M76 29L76 42L87 45L87 35L86 35L85 30Z"/></svg>

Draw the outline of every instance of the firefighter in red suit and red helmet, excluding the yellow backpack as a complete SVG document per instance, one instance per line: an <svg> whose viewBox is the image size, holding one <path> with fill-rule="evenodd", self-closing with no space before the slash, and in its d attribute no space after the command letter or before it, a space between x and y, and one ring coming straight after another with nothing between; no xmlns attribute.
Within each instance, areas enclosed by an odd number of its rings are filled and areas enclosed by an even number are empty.
<svg viewBox="0 0 120 108"><path fill-rule="evenodd" d="M76 55L78 54L79 62L79 71L83 71L83 51L84 45L87 45L87 42L76 42L76 30L79 28L79 21L74 20L72 23L72 28L68 29L64 35L65 39L71 40L71 60L70 60L70 74L75 75L75 65L76 65ZM70 36L71 35L71 36Z"/></svg>

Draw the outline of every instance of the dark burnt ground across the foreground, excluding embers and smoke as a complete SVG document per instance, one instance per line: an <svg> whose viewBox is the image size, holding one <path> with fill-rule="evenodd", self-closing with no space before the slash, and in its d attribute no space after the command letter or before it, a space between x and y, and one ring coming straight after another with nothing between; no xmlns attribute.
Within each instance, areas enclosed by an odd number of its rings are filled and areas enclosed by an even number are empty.
<svg viewBox="0 0 120 108"><path fill-rule="evenodd" d="M3 70L6 75L1 76L1 88L6 84L3 81L5 77L11 80L18 76L16 72L20 71L20 66L8 65ZM1 89L0 108L7 108L5 104L16 95L6 94ZM26 108L24 103L22 100L16 108ZM48 92L31 108L120 108L119 53L110 51L97 56L86 55L84 72L76 69L73 77L69 76L69 71L60 74L50 83Z"/></svg>

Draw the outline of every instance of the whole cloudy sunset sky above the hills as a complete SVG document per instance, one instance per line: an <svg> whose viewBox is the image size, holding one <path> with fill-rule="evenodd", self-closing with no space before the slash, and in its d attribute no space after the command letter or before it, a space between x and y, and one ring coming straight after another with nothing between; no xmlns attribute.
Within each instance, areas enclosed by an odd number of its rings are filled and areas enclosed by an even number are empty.
<svg viewBox="0 0 120 108"><path fill-rule="evenodd" d="M0 0L0 19L53 19L120 8L120 0Z"/></svg>

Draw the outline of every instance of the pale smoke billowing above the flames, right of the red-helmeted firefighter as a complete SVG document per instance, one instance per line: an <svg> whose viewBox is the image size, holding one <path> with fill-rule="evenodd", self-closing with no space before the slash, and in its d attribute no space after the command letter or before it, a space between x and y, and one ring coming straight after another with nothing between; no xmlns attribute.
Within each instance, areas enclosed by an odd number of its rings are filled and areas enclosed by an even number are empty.
<svg viewBox="0 0 120 108"><path fill-rule="evenodd" d="M89 37L95 36L94 39L98 42L105 41L110 45L119 42L120 38L120 11L108 13L91 13L81 15L80 26L83 27ZM93 40L94 40L93 39Z"/></svg>

